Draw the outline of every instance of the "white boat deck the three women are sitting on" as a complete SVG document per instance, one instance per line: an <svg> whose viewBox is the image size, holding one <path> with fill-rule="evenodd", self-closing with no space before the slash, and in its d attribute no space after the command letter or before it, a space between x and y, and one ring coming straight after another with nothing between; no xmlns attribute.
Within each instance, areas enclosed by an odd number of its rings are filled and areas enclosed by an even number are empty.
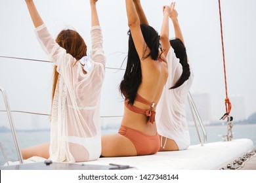
<svg viewBox="0 0 256 183"><path fill-rule="evenodd" d="M244 156L247 152L251 152L254 148L253 146L254 144L251 139L210 142L203 144L203 146L201 144L190 146L187 150L158 152L150 156L99 158L95 161L76 163L78 166L73 167L73 169L88 169L88 167L89 169L109 169L111 167L109 166L110 163L114 163L117 165L129 165L139 170L219 170L228 163ZM22 166L18 168L12 166L10 169L41 169L42 166L36 167L27 163L42 161L45 161L45 159L32 157L24 160L26 165L23 165L23 168ZM19 162L9 162L9 164L18 165ZM70 169L68 163L65 164L61 169ZM60 168L57 165L53 169L58 169L58 167ZM9 169L9 167L4 166L1 169ZM45 169L45 166L43 166L43 169Z"/></svg>

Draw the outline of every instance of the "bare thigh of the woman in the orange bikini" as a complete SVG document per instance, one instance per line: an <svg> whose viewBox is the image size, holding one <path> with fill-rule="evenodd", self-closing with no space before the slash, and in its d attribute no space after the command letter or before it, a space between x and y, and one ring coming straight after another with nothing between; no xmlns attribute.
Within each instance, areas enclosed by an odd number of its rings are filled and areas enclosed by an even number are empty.
<svg viewBox="0 0 256 183"><path fill-rule="evenodd" d="M103 157L137 156L133 142L120 134L102 135L101 145Z"/></svg>

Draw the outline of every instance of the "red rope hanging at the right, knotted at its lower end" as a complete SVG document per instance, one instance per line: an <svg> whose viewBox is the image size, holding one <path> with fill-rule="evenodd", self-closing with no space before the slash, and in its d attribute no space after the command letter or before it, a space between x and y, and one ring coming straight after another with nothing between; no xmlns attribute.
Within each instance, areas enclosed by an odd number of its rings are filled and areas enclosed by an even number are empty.
<svg viewBox="0 0 256 183"><path fill-rule="evenodd" d="M223 66L224 66L224 82L225 82L225 90L226 90L226 99L225 99L225 107L226 107L226 114L221 119L225 119L226 115L230 113L231 110L231 103L228 99L228 87L226 85L226 65L225 65L225 54L224 54L224 43L223 43L223 23L221 19L221 0L219 0L219 18L221 22L221 44L223 48Z"/></svg>

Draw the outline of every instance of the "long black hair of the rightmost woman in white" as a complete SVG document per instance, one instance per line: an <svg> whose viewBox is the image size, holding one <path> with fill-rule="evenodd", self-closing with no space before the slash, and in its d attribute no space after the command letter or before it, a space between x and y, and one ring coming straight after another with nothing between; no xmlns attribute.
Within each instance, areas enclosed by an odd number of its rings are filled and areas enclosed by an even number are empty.
<svg viewBox="0 0 256 183"><path fill-rule="evenodd" d="M190 68L189 68L189 64L188 64L188 58L186 55L186 48L185 48L183 42L181 41L181 39L171 39L170 43L171 43L171 47L173 48L173 50L175 52L176 57L180 59L180 63L182 65L181 77L179 78L179 80L177 80L177 82L175 83L174 86L169 88L169 89L174 89L174 88L178 88L186 80L188 80L188 78L190 76Z"/></svg>

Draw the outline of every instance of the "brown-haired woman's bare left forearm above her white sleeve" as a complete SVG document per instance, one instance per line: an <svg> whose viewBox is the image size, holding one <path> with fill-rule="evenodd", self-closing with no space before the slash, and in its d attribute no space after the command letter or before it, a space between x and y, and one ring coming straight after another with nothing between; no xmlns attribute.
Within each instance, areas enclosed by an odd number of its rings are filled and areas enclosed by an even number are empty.
<svg viewBox="0 0 256 183"><path fill-rule="evenodd" d="M35 8L35 4L33 3L33 0L25 0L28 10L30 12L30 16L32 18L33 25L36 27L39 27L43 24L43 20L41 19L41 16L37 12L37 8Z"/></svg>

